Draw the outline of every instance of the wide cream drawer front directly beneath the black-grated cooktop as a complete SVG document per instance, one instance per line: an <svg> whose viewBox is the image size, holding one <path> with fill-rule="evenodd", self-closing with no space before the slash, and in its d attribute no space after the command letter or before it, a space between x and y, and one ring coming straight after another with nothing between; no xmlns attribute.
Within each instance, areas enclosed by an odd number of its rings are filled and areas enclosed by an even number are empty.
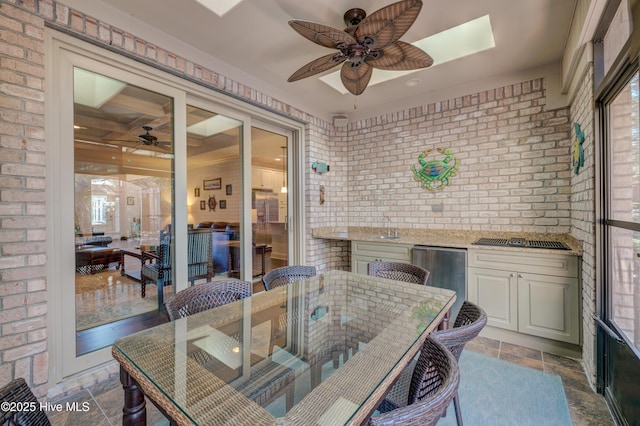
<svg viewBox="0 0 640 426"><path fill-rule="evenodd" d="M469 249L468 255L470 267L531 272L558 277L578 276L577 256L478 249Z"/></svg>

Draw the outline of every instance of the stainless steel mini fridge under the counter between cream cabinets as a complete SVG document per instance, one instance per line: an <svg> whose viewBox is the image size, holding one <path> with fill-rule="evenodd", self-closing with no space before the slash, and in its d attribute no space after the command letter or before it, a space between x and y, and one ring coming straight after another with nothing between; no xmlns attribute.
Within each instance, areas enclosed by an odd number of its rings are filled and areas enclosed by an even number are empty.
<svg viewBox="0 0 640 426"><path fill-rule="evenodd" d="M412 263L429 271L427 285L456 292L456 303L451 308L451 325L453 326L460 306L467 298L467 250L415 246Z"/></svg>

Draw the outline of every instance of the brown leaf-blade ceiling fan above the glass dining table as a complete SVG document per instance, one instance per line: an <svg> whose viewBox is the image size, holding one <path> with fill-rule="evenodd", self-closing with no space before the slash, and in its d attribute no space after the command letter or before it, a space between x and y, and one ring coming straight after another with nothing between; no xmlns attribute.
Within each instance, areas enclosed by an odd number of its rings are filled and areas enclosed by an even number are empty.
<svg viewBox="0 0 640 426"><path fill-rule="evenodd" d="M320 46L338 49L309 62L294 72L293 82L343 64L340 78L345 88L360 95L367 88L373 68L403 71L427 68L433 58L423 50L399 41L413 25L422 9L422 0L402 0L367 16L362 9L344 14L343 31L315 22L291 20L289 25L300 35Z"/></svg>

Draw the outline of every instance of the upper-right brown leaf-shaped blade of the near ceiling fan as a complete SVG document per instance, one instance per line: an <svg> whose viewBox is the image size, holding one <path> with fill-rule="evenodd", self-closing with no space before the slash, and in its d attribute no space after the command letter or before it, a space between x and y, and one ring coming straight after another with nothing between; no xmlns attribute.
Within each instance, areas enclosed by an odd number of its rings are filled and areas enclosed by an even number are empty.
<svg viewBox="0 0 640 426"><path fill-rule="evenodd" d="M413 25L422 9L422 0L402 0L373 12L360 22L356 39L371 37L372 48L382 49L397 41Z"/></svg>

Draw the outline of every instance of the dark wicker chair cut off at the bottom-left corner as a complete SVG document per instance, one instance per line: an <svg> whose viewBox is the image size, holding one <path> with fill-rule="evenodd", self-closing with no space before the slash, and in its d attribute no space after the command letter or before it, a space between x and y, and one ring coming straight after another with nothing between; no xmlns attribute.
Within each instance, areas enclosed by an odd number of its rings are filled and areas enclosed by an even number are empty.
<svg viewBox="0 0 640 426"><path fill-rule="evenodd" d="M40 408L40 403L22 377L19 377L0 389L0 425L17 426L50 426L47 414ZM15 409L4 403L20 403L21 409ZM25 407L29 407L25 409ZM9 408L8 410L6 408Z"/></svg>

